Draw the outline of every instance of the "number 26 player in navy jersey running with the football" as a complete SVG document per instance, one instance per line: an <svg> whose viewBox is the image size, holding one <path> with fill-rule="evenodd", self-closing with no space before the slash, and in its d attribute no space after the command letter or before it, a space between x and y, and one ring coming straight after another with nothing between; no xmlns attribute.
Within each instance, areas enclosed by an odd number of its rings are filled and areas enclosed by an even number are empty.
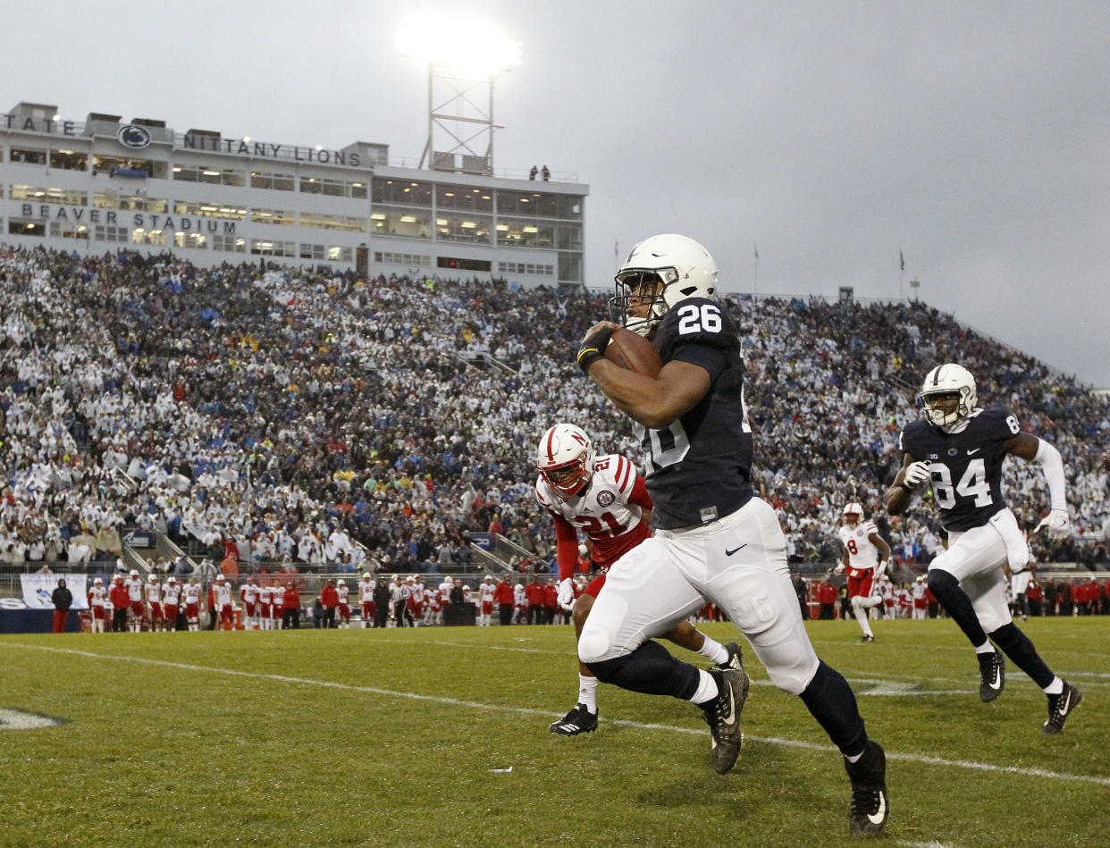
<svg viewBox="0 0 1110 848"><path fill-rule="evenodd" d="M714 767L740 750L747 675L698 669L652 639L705 604L728 614L771 682L797 695L844 755L851 780L849 827L876 835L889 811L886 756L868 739L856 696L818 658L790 583L786 537L749 479L751 427L736 325L714 300L717 265L683 235L655 235L616 275L625 325L652 339L655 377L603 355L617 324L591 327L578 365L639 426L655 535L609 568L578 642L597 678L633 691L697 704L713 735Z"/></svg>

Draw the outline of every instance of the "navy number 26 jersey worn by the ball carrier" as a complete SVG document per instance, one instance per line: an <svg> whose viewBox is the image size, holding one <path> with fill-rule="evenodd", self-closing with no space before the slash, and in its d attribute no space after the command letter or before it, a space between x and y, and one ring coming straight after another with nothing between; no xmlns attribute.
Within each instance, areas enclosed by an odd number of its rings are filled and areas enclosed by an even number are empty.
<svg viewBox="0 0 1110 848"><path fill-rule="evenodd" d="M655 502L652 524L674 529L724 518L751 497L751 427L736 324L715 301L692 297L663 316L655 346L664 365L673 360L700 365L712 383L666 430L637 427Z"/></svg>

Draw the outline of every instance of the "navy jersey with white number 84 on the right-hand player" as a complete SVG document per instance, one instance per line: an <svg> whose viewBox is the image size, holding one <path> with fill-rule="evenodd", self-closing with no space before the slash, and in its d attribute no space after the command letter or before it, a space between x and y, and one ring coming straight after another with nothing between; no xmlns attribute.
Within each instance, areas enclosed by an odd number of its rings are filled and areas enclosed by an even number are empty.
<svg viewBox="0 0 1110 848"><path fill-rule="evenodd" d="M981 527L1002 502L1002 444L1021 432L1006 410L976 410L960 433L945 433L927 421L914 421L899 444L914 460L929 463L932 497L946 531Z"/></svg>

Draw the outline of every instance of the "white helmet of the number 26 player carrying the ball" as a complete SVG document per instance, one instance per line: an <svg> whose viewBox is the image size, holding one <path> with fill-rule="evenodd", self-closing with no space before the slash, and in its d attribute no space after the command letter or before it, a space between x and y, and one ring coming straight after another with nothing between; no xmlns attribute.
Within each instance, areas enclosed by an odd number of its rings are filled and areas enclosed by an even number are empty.
<svg viewBox="0 0 1110 848"><path fill-rule="evenodd" d="M685 235L653 235L628 253L616 276L616 294L610 304L628 330L647 336L664 313L687 297L713 297L717 292L717 263L709 251ZM628 313L632 299L643 284L662 282L650 299L647 315Z"/></svg>

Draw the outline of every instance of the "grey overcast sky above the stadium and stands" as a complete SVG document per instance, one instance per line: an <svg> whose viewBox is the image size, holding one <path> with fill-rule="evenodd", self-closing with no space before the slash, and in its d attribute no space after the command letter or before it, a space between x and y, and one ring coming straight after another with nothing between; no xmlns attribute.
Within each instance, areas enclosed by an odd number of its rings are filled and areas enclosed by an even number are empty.
<svg viewBox="0 0 1110 848"><path fill-rule="evenodd" d="M909 295L1110 387L1110 3L9 3L0 108L420 158L414 9L523 43L497 170L589 185L586 273L703 242L725 291ZM899 251L906 271L899 270ZM958 359L958 351L951 356Z"/></svg>

